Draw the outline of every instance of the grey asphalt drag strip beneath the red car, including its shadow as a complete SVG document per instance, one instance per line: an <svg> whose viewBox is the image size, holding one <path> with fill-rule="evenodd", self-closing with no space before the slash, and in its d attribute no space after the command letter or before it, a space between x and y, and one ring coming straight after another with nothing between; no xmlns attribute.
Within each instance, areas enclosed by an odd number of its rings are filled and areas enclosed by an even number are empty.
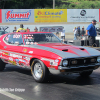
<svg viewBox="0 0 100 100"><path fill-rule="evenodd" d="M7 65L0 72L0 89L0 100L99 100L100 68L86 78L50 75L47 83L37 83L30 70Z"/></svg>

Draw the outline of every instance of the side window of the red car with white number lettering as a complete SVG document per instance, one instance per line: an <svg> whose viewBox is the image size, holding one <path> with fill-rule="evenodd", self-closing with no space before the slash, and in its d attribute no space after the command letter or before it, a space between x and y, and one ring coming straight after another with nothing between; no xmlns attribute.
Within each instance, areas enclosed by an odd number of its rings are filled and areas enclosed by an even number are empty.
<svg viewBox="0 0 100 100"><path fill-rule="evenodd" d="M9 34L5 37L5 41L9 44L23 44L21 34Z"/></svg>

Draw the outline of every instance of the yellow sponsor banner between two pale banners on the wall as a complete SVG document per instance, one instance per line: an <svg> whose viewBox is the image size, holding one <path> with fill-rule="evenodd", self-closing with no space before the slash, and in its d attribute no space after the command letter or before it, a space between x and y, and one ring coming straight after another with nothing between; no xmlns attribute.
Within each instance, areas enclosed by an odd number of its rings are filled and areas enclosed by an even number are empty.
<svg viewBox="0 0 100 100"><path fill-rule="evenodd" d="M67 22L67 9L35 9L35 22Z"/></svg>

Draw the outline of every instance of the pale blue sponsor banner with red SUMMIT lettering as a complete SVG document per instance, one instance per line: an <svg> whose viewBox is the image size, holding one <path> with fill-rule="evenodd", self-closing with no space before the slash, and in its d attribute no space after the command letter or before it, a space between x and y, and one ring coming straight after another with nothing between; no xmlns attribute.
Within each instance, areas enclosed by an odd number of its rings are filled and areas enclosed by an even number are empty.
<svg viewBox="0 0 100 100"><path fill-rule="evenodd" d="M34 9L3 9L2 23L34 22Z"/></svg>

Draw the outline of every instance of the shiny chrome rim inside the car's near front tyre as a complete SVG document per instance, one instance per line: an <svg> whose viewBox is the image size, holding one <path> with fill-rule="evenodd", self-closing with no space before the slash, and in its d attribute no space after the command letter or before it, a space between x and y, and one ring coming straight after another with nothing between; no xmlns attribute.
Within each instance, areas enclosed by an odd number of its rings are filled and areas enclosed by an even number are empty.
<svg viewBox="0 0 100 100"><path fill-rule="evenodd" d="M34 65L34 75L37 77L37 78L41 78L42 75L43 75L43 70L42 70L42 65L40 63L36 63Z"/></svg>

